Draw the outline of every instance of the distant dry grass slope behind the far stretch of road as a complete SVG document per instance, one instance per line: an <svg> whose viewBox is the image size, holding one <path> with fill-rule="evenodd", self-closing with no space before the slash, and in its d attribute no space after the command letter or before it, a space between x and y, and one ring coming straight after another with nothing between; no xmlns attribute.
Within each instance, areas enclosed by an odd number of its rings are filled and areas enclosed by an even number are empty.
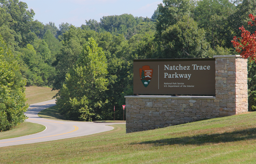
<svg viewBox="0 0 256 164"><path fill-rule="evenodd" d="M44 102L53 99L58 91L52 91L49 87L26 87L26 103L34 104L38 102Z"/></svg>

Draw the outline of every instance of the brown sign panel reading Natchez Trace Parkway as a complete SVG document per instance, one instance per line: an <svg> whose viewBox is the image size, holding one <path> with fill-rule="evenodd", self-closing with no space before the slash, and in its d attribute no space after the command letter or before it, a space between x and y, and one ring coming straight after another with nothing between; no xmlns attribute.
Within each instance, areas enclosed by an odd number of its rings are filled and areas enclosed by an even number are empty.
<svg viewBox="0 0 256 164"><path fill-rule="evenodd" d="M215 95L215 58L134 59L133 93Z"/></svg>

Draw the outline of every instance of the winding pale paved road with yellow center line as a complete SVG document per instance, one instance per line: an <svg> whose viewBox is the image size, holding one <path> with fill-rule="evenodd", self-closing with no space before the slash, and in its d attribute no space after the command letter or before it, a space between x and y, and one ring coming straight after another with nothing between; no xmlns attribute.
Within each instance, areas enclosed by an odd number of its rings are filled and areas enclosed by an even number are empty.
<svg viewBox="0 0 256 164"><path fill-rule="evenodd" d="M29 110L25 113L29 117L26 121L45 125L45 131L34 135L26 135L17 138L9 138L0 140L0 147L22 145L35 142L52 141L64 138L73 138L84 135L92 135L104 131L110 131L113 128L109 123L93 123L93 122L79 122L79 121L59 121L49 120L38 117L37 113L43 109L55 105L55 100L40 102L30 105ZM120 124L120 123L113 123ZM125 124L125 123L123 123Z"/></svg>

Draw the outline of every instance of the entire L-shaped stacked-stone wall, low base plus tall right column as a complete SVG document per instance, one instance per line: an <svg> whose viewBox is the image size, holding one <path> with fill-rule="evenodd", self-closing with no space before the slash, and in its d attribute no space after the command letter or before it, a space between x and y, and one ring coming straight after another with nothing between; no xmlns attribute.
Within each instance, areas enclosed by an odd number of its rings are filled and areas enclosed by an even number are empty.
<svg viewBox="0 0 256 164"><path fill-rule="evenodd" d="M248 111L247 59L215 57L215 96L125 96L126 131L144 131Z"/></svg>

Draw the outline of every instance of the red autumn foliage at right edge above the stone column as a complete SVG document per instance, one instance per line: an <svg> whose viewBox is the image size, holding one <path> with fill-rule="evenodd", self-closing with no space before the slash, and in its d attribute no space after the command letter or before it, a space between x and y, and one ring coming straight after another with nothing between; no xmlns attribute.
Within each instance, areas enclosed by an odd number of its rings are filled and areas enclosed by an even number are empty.
<svg viewBox="0 0 256 164"><path fill-rule="evenodd" d="M248 25L256 26L255 17L250 14L249 17L252 19L252 22L248 22ZM250 60L256 61L256 31L254 33L248 32L244 26L241 26L241 38L237 38L237 36L233 37L231 41L233 43L233 47L236 48L236 51L240 53L242 58L250 58Z"/></svg>

